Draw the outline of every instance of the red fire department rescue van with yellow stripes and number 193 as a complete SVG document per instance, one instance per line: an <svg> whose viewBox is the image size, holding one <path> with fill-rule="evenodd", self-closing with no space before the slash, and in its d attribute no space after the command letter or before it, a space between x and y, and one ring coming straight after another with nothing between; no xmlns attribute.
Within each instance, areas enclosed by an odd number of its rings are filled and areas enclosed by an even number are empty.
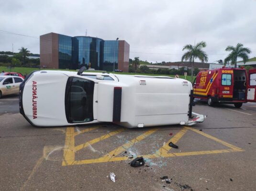
<svg viewBox="0 0 256 191"><path fill-rule="evenodd" d="M256 69L219 68L199 72L193 83L193 97L214 103L234 104L256 102Z"/></svg>

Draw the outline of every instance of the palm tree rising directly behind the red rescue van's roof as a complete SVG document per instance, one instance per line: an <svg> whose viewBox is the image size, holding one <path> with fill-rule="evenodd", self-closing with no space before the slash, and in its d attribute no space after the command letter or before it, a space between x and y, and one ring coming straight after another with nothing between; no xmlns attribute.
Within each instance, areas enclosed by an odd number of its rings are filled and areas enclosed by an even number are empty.
<svg viewBox="0 0 256 191"><path fill-rule="evenodd" d="M236 68L237 57L242 58L245 64L249 59L248 54L251 53L251 50L243 46L244 45L241 43L237 43L236 47L228 46L225 51L231 51L231 53L229 53L228 56L225 58L224 64L231 62L231 64L234 64L234 67Z"/></svg>

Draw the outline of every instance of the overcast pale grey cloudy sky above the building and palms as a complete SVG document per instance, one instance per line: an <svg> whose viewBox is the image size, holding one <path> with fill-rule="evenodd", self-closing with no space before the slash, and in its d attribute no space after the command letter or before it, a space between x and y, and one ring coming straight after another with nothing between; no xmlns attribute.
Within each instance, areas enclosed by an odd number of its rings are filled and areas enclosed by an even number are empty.
<svg viewBox="0 0 256 191"><path fill-rule="evenodd" d="M205 41L209 62L241 42L256 56L256 0L0 0L0 51L40 53L56 32L125 40L130 58L180 61L182 47ZM16 35L8 32L27 35ZM28 37L29 36L29 37Z"/></svg>

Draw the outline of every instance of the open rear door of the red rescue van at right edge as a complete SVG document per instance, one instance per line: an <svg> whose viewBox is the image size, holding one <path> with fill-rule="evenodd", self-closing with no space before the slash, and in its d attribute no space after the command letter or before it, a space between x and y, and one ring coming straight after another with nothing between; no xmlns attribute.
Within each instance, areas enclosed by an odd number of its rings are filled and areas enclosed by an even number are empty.
<svg viewBox="0 0 256 191"><path fill-rule="evenodd" d="M247 82L247 102L256 102L256 69L249 70Z"/></svg>

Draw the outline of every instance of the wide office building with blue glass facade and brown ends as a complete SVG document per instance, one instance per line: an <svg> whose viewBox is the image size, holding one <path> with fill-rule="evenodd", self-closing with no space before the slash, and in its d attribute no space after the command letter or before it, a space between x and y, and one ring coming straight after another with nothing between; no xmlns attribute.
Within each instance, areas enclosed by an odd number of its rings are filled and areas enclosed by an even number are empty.
<svg viewBox="0 0 256 191"><path fill-rule="evenodd" d="M48 33L40 36L40 65L46 68L128 72L130 45L97 37Z"/></svg>

